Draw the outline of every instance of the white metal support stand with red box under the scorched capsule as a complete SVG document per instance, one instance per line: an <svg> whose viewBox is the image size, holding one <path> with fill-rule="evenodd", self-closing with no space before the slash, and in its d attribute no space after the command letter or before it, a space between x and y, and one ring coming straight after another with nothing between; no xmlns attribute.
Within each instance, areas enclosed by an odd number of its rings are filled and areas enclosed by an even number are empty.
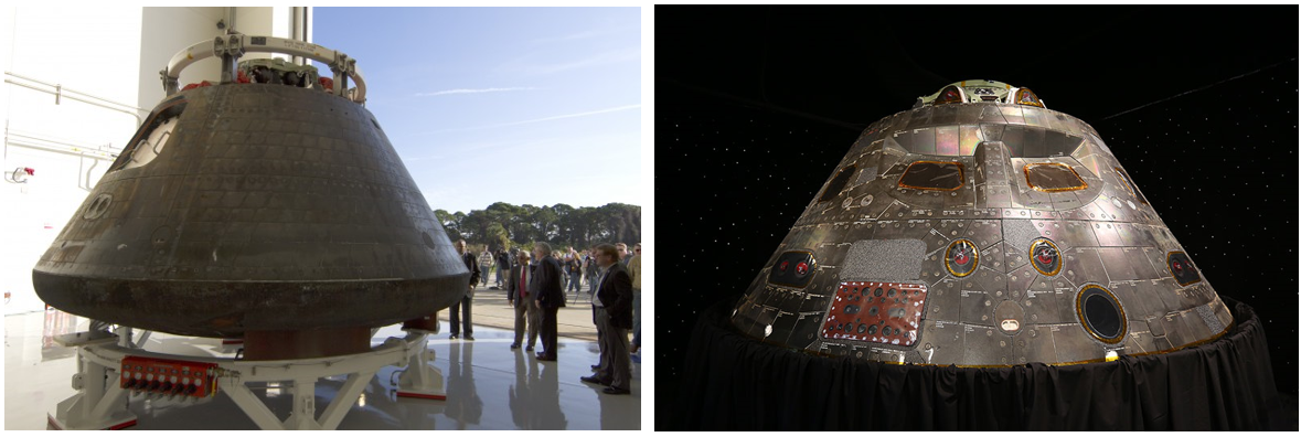
<svg viewBox="0 0 1301 437"><path fill-rule="evenodd" d="M135 349L133 343L117 345L118 337L105 333L77 333L65 346L75 346L78 373L73 376L72 398L60 402L49 427L56 429L121 429L135 424L127 410L129 391L120 388L118 367L122 358L141 356L169 360L217 364L219 393L225 393L262 429L336 429L366 385L386 365L406 364L407 372L399 384L399 393L415 397L446 399L442 373L433 368L433 352L425 346L428 333L411 330L406 338L390 337L369 352L324 356L299 360L245 362L213 356L177 356ZM56 339L59 341L59 339ZM325 411L316 416L316 381L328 376L347 375L347 381ZM291 381L289 388L294 406L289 417L281 420L246 385L247 382ZM173 397L143 393L138 395L173 399ZM181 402L204 402L180 397Z"/></svg>

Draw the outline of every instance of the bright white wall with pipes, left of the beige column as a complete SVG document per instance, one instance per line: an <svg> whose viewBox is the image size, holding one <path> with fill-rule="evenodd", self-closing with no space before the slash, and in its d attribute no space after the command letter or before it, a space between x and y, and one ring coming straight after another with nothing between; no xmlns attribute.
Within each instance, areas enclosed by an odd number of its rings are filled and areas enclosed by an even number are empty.
<svg viewBox="0 0 1301 437"><path fill-rule="evenodd" d="M5 8L8 51L4 70L61 85L108 100L135 104L139 64L139 8ZM5 75L7 79L14 79ZM34 85L26 82L27 85ZM44 86L38 86L44 88ZM0 170L36 170L27 183L0 182L0 289L10 293L5 313L38 311L31 268L49 247L107 161L33 150L46 144L73 151L116 148L129 140L138 118L51 94L5 85L5 144ZM72 146L69 146L72 144ZM103 153L100 153L103 156Z"/></svg>

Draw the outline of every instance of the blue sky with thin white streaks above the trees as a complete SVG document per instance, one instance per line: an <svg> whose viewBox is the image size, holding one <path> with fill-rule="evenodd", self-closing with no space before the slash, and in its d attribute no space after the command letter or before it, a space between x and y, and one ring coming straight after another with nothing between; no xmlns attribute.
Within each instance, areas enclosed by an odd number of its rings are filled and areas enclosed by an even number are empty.
<svg viewBox="0 0 1301 437"><path fill-rule="evenodd" d="M429 205L644 205L640 8L314 8ZM317 65L321 75L329 68Z"/></svg>

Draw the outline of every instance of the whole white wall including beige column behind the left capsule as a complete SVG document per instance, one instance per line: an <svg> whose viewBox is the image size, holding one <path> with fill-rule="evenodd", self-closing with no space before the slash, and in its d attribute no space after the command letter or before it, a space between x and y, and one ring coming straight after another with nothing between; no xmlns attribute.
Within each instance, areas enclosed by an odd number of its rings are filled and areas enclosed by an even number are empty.
<svg viewBox="0 0 1301 437"><path fill-rule="evenodd" d="M0 8L0 65L8 73L121 103L118 111L5 83L0 170L30 166L27 183L0 181L0 290L5 313L39 311L31 268L144 117L164 98L159 70L178 51L222 34L229 8ZM290 8L235 8L235 29L289 38ZM252 57L252 56L250 56ZM181 86L220 79L221 61L186 68ZM53 91L5 74L7 81ZM138 108L139 111L131 109ZM38 146L38 147L33 147Z"/></svg>

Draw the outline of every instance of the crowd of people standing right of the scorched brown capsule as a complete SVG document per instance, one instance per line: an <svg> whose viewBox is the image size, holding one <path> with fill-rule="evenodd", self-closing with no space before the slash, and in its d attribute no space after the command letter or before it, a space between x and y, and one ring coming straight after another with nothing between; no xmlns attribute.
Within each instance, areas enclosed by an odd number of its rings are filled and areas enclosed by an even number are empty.
<svg viewBox="0 0 1301 437"><path fill-rule="evenodd" d="M541 338L537 359L557 360L557 312L566 306L566 294L572 293L572 303L588 285L588 303L596 325L600 363L592 365L593 375L580 380L605 385L604 393L631 393L631 362L641 350L641 243L630 252L624 243L597 245L579 252L574 247L554 251L545 242L533 243L533 250L487 247L477 256L466 242L455 243L466 268L470 271L470 290L451 306L451 339L474 341L471 304L475 287L489 287L496 272L496 285L489 289L505 290L515 311L515 338L510 349L524 347L533 351ZM632 341L628 341L628 333ZM464 337L461 337L461 336ZM527 339L527 342L526 342Z"/></svg>

